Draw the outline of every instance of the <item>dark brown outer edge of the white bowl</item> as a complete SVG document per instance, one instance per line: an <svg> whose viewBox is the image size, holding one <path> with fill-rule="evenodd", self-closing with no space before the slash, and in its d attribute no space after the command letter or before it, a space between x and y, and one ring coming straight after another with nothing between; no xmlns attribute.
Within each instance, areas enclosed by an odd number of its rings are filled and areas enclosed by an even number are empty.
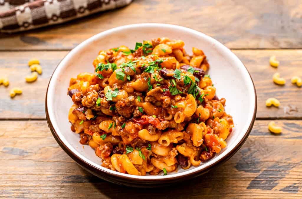
<svg viewBox="0 0 302 199"><path fill-rule="evenodd" d="M223 45L223 44L222 44ZM225 46L226 47L226 46ZM227 48L227 47L226 47ZM228 48L229 49L229 48ZM230 49L229 49L230 50ZM65 56L64 58L70 53L72 52L73 49L71 51L69 51ZM231 50L230 50L231 51ZM232 51L231 51L232 52ZM232 52L233 53L233 52ZM236 55L235 55L236 56ZM237 57L237 56L236 56ZM63 58L63 59L64 59ZM62 60L63 60L62 59ZM61 61L62 61L61 60ZM61 63L61 61L59 62L59 64ZM242 61L240 60L240 62L242 63ZM53 74L54 72L56 71L57 67L59 66L59 64L56 66L55 70L53 71ZM243 64L243 63L242 63ZM245 67L246 71L249 73L249 71L247 70L246 66L243 64L243 66ZM257 94L256 94L256 89L255 89L255 84L254 84L254 81L252 79L252 76L251 74L249 73L249 77L252 81L252 84L253 84L253 87L254 87L254 93L255 93L255 106L254 106L254 113L253 113L253 118L252 118L252 122L251 124L249 125L249 128L247 129L245 135L243 136L243 138L239 141L239 143L230 151L228 152L224 157L222 157L221 159L217 160L217 162L209 165L209 166L206 166L204 167L203 169L201 170L198 170L198 171L194 171L192 173L188 173L186 175L182 175L182 176L175 176L175 177L172 177L172 178L167 178L167 179L137 179L135 177L131 177L131 176L120 176L120 175L117 175L115 173L110 173L110 172L107 172L107 171L104 171L104 170L101 170L91 164L89 164L88 162L86 162L85 160L82 160L79 156L77 156L75 153L73 153L64 143L63 141L59 138L58 134L56 133L56 130L53 128L53 125L50 121L50 117L49 117L49 114L48 114L48 107L47 107L47 94L48 94L48 88L49 88L49 85L50 85L50 81L53 77L53 74L51 75L50 77L50 80L48 82L48 86L47 86L47 91L46 91L46 97L45 97L45 113L46 113L46 120L47 120L47 124L48 124L48 127L50 128L50 131L51 133L53 134L53 137L56 139L57 143L59 144L59 146L69 155L69 157L71 157L73 160L76 161L76 163L78 163L80 166L82 166L83 168L87 169L88 171L92 172L94 175L95 174L99 174L101 176L101 173L103 174L107 174L111 177L117 177L117 178L120 178L120 179L124 179L124 180L127 180L127 182L129 183L129 180L135 180L135 181L139 181L139 182L156 182L156 183L160 183L162 181L173 181L173 180L180 180L180 179L188 179L188 178L192 178L194 176L198 176L198 174L203 174L203 173L206 173L208 171L210 171L211 169L213 169L214 167L217 167L219 166L220 164L222 164L223 162L225 162L226 160L230 159L238 150L239 148L241 148L241 146L244 144L244 142L246 141L246 139L249 137L249 134L250 132L252 131L252 127L254 125L254 122L255 122L255 119L256 119L256 112L257 112ZM104 178L106 176L103 176ZM114 182L114 180L110 180L108 179L110 182ZM117 179L116 179L117 180ZM135 181L133 181L133 184L135 184Z"/></svg>

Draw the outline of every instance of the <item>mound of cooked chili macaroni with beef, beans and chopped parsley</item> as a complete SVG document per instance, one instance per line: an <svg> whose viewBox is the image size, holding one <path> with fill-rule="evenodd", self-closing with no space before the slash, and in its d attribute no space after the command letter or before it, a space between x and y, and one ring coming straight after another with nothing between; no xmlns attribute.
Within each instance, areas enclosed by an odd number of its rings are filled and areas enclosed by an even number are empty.
<svg viewBox="0 0 302 199"><path fill-rule="evenodd" d="M100 51L95 73L70 79L71 130L102 166L157 175L198 166L226 147L234 127L218 98L204 52L156 38Z"/></svg>

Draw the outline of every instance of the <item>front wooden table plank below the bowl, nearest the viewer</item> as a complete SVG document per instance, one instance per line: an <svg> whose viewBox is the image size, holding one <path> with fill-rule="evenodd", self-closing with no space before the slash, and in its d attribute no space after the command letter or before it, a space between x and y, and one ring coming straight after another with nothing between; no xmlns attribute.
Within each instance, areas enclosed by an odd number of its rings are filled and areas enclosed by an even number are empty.
<svg viewBox="0 0 302 199"><path fill-rule="evenodd" d="M301 198L302 120L279 120L281 135L269 133L268 122L256 120L243 147L209 173L171 187L137 189L81 169L46 121L0 121L0 197Z"/></svg>

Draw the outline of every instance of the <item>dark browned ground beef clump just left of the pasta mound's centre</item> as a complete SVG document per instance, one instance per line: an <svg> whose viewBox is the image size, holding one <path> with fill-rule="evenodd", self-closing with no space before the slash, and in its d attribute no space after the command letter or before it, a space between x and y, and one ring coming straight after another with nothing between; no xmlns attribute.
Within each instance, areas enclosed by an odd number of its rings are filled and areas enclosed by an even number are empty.
<svg viewBox="0 0 302 199"><path fill-rule="evenodd" d="M130 118L135 109L135 98L133 96L129 96L126 99L120 99L115 104L117 112L126 118Z"/></svg>

